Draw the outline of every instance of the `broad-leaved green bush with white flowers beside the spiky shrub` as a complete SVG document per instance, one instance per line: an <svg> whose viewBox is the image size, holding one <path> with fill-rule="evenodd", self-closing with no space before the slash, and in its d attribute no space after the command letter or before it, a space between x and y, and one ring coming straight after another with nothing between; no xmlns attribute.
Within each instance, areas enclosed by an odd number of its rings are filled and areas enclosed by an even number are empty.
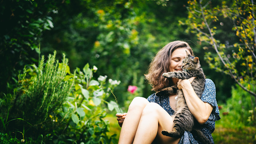
<svg viewBox="0 0 256 144"><path fill-rule="evenodd" d="M110 124L104 117L107 111L116 109L119 111L116 102L107 102L110 96L110 88L114 89L120 81L109 80L107 76L100 76L93 79L93 72L97 68L89 68L87 63L80 71L76 69L76 75L67 75L66 79L74 79L75 85L70 97L64 103L64 109L56 115L53 120L60 122L60 127L55 127L51 139L55 143L72 144L110 144L117 143L116 134L107 135L110 131Z"/></svg>

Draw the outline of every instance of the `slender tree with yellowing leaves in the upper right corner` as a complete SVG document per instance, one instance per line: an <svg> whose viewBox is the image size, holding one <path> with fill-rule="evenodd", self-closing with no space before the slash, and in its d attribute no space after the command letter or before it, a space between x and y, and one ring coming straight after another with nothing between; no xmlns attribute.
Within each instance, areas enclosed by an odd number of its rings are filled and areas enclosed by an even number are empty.
<svg viewBox="0 0 256 144"><path fill-rule="evenodd" d="M196 33L200 42L208 44L204 49L207 51L205 59L210 67L230 75L244 91L254 96L251 101L256 104L254 1L214 2L188 1L189 16L185 22L189 25L187 30Z"/></svg>

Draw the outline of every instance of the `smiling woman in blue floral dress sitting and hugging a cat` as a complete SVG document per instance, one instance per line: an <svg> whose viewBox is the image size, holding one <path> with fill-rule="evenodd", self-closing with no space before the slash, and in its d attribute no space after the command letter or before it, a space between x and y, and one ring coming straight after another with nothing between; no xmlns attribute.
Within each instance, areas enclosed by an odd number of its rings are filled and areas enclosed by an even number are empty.
<svg viewBox="0 0 256 144"><path fill-rule="evenodd" d="M184 41L173 41L164 46L153 58L146 79L152 85L152 90L159 90L177 85L184 93L186 103L195 119L203 126L202 132L213 142L212 132L215 121L219 120L219 109L215 98L215 85L210 79L206 79L205 89L201 99L197 97L189 80L172 78L168 80L163 73L181 69L183 58L187 56L185 50L191 55L193 51ZM136 97L129 105L128 112L116 114L117 121L122 127L119 144L201 144L193 138L190 132L184 132L181 138L164 136L162 130L173 130L173 118L175 111L175 97L157 97L152 94L147 99Z"/></svg>

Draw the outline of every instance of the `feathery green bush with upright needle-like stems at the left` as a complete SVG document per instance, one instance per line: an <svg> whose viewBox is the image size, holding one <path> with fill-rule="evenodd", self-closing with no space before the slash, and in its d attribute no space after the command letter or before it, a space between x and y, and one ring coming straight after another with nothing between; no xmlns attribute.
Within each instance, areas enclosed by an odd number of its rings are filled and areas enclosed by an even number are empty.
<svg viewBox="0 0 256 144"><path fill-rule="evenodd" d="M50 131L53 124L49 115L62 109L73 86L73 81L64 81L69 71L67 58L64 55L59 63L55 56L56 52L49 55L46 63L42 56L38 67L35 64L25 67L14 93L0 99L1 133L15 131L15 138L24 139L25 135L37 139Z"/></svg>

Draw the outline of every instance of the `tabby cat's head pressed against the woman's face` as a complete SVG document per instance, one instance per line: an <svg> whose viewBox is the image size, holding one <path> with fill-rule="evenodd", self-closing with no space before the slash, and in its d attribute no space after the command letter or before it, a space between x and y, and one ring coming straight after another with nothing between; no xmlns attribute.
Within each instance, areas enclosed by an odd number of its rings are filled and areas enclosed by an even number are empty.
<svg viewBox="0 0 256 144"><path fill-rule="evenodd" d="M188 51L186 53L187 57L183 59L181 68L183 70L199 69L201 67L199 58L191 56Z"/></svg>

